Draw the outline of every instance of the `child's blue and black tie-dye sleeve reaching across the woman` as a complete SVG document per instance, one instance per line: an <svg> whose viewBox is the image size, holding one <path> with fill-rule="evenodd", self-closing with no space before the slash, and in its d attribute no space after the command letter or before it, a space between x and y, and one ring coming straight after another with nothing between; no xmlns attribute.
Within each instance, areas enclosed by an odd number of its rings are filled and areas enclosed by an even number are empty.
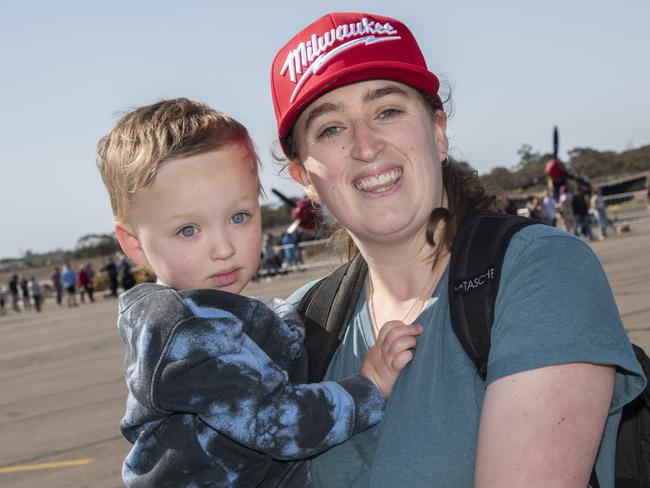
<svg viewBox="0 0 650 488"><path fill-rule="evenodd" d="M360 375L292 385L228 312L176 327L152 398L156 408L195 414L215 434L276 459L309 457L347 440L377 423L384 404Z"/></svg>

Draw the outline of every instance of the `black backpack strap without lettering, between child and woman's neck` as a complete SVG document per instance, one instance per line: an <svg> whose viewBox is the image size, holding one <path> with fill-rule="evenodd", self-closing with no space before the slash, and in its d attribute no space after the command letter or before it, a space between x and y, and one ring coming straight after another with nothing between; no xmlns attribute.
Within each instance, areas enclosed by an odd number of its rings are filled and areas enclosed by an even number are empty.
<svg viewBox="0 0 650 488"><path fill-rule="evenodd" d="M315 283L297 307L305 324L309 382L322 381L341 344L366 279L368 266L360 254Z"/></svg>

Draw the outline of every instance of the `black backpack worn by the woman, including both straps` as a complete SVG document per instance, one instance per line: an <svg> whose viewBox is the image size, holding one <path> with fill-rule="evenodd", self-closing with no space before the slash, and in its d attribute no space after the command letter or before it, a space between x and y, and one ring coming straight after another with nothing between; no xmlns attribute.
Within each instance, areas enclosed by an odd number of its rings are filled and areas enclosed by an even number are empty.
<svg viewBox="0 0 650 488"><path fill-rule="evenodd" d="M483 380L503 258L512 236L535 223L501 213L477 213L463 222L454 239L448 285L452 327ZM310 382L322 381L354 313L367 271L357 255L315 283L300 301ZM650 378L650 358L640 347L633 348ZM615 473L616 488L650 488L650 385L623 409ZM589 483L600 488L595 470Z"/></svg>

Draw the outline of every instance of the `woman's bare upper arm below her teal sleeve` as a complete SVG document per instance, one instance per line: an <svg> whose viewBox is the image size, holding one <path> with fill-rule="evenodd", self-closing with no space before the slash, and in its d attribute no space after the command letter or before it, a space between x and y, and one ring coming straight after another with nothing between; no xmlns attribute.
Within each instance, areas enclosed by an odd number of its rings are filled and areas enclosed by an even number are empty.
<svg viewBox="0 0 650 488"><path fill-rule="evenodd" d="M613 366L569 363L487 388L474 486L585 488L614 391Z"/></svg>

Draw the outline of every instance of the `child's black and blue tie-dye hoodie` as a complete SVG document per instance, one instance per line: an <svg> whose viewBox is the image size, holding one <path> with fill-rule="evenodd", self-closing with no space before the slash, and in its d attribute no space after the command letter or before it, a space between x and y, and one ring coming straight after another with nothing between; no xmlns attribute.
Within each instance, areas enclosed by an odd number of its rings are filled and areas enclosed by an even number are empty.
<svg viewBox="0 0 650 488"><path fill-rule="evenodd" d="M363 376L300 384L304 329L269 305L157 284L120 296L126 486L309 486L305 458L380 420L384 399Z"/></svg>

